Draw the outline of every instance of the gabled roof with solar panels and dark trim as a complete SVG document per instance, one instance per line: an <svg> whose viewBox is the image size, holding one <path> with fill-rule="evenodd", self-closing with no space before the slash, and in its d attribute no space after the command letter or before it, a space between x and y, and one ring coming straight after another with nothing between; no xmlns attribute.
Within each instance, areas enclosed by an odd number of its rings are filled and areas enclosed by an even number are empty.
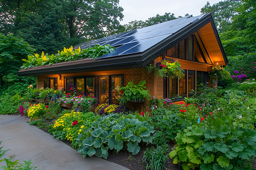
<svg viewBox="0 0 256 170"><path fill-rule="evenodd" d="M208 25L208 27L210 25L210 36L205 36L207 39L204 40L204 43L206 41L212 41L211 45L213 44L214 46L213 48L209 45L207 49L210 53L211 49L213 49L212 58L217 53L220 54L221 57L217 57L217 60L222 59L226 64L227 59L212 15L204 14L195 17L185 16L149 27L135 29L134 31L84 42L74 46L74 48L79 48L80 46L81 49L85 49L95 44L110 44L111 46L115 46L115 50L97 59L85 58L77 61L54 63L51 66L37 66L20 70L18 75L61 74L81 71L113 70L134 67L136 65L145 66L205 25Z"/></svg>

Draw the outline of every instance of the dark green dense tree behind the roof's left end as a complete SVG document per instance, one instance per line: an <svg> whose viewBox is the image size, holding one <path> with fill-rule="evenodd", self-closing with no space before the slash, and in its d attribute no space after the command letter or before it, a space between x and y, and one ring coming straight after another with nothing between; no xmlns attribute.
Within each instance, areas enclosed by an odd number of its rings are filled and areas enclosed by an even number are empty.
<svg viewBox="0 0 256 170"><path fill-rule="evenodd" d="M18 25L16 36L22 37L36 49L36 53L42 51L48 54L56 53L64 46L68 47L68 37L65 35L65 26L59 22L59 7L52 3L46 3L44 10L36 15L30 15L26 21Z"/></svg>

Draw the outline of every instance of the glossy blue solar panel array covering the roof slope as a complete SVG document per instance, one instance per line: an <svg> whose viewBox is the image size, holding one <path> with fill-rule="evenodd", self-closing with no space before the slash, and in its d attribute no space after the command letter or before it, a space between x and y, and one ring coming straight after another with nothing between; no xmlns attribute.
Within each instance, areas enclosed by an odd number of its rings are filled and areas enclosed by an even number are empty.
<svg viewBox="0 0 256 170"><path fill-rule="evenodd" d="M111 53L104 54L98 58L117 57L127 54L142 53L148 48L158 44L167 37L171 36L180 29L202 18L199 16L185 16L168 22L135 29L134 31L123 32L117 35L104 37L102 39L92 40L76 45L74 48L86 49L95 44L115 46L115 50Z"/></svg>

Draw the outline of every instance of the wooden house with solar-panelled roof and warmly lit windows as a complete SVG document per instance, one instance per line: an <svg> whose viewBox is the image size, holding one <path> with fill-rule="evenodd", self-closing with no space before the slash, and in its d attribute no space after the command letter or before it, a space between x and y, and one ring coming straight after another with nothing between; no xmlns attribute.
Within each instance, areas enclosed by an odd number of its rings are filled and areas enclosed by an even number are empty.
<svg viewBox="0 0 256 170"><path fill-rule="evenodd" d="M85 49L110 44L113 52L97 59L54 63L19 70L18 75L36 76L37 88L56 88L67 93L97 96L100 103L115 104L116 90L129 81L146 80L151 96L188 96L200 83L210 81L208 71L228 63L211 14L185 16L150 27L120 33L77 45ZM144 69L162 59L178 59L184 69L182 79L162 78Z"/></svg>

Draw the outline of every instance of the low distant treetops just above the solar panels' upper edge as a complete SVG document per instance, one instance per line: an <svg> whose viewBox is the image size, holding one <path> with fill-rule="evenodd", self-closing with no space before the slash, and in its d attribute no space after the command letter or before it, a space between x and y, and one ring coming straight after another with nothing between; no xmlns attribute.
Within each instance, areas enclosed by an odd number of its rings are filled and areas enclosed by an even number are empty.
<svg viewBox="0 0 256 170"><path fill-rule="evenodd" d="M186 15L188 15L188 14L186 14ZM176 17L174 16L173 13L171 14L170 12L169 13L166 12L164 15L157 14L156 16L148 18L145 21L134 20L134 21L129 22L128 24L125 24L125 31L131 31L131 30L138 29L138 28L148 27L151 25L167 22L167 21L173 20L173 19L176 19Z"/></svg>

